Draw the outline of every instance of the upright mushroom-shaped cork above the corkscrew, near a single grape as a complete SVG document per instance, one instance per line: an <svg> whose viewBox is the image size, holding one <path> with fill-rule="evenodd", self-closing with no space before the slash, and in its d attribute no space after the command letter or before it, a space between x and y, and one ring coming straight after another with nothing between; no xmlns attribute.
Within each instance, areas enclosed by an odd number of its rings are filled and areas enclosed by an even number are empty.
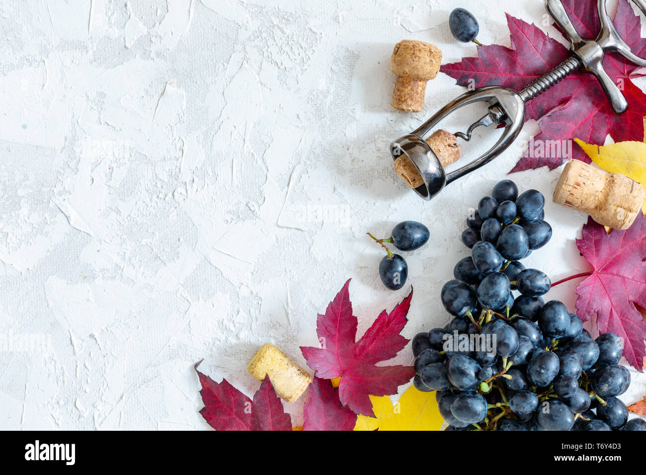
<svg viewBox="0 0 646 475"><path fill-rule="evenodd" d="M440 70L442 52L430 43L404 39L395 45L390 69L397 76L391 105L404 112L419 112L424 107L426 81Z"/></svg>

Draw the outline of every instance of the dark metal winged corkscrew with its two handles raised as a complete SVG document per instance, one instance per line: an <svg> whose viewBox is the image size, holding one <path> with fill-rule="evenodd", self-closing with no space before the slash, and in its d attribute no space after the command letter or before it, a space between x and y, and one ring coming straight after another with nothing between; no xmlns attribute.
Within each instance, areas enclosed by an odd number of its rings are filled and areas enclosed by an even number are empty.
<svg viewBox="0 0 646 475"><path fill-rule="evenodd" d="M646 15L646 0L631 1ZM606 96L608 96L614 111L621 114L621 112L625 112L628 109L626 98L621 93L619 87L612 81L612 78L603 69L603 58L606 52L617 52L631 63L639 66L646 66L646 59L640 58L630 51L630 47L621 38L612 24L612 19L610 19L606 11L606 3L607 0L597 0L601 30L599 30L599 34L595 39L588 39L579 36L578 32L576 32L572 21L570 21L570 18L565 12L561 0L546 0L545 6L547 11L554 18L554 21L561 28L565 36L570 39L570 49L574 53L573 56L563 61L563 63L554 69L546 72L540 78L532 81L532 83L528 84L519 92L501 86L481 87L466 92L437 111L419 129L413 131L411 134L398 138L390 144L393 160L397 160L402 153L406 154L417 168L417 171L419 171L422 180L424 180L424 184L415 188L415 192L419 196L425 200L430 200L446 184L485 165L503 153L516 140L516 137L523 127L523 123L525 123L525 103L581 67L596 76ZM435 156L435 153L424 142L424 136L435 129L437 123L452 114L452 112L457 111L457 109L465 105L476 102L489 103L489 112L479 121L472 123L466 133L457 132L454 135L468 141L471 139L472 132L476 127L480 127L481 125L485 127L490 127L491 125L498 126L504 123L503 134L485 154L460 169L446 173L437 156Z"/></svg>

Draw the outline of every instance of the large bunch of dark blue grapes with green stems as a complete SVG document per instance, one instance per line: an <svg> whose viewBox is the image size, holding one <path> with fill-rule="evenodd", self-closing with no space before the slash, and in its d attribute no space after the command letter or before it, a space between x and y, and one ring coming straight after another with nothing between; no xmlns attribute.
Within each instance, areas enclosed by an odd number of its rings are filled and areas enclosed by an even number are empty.
<svg viewBox="0 0 646 475"><path fill-rule="evenodd" d="M621 339L593 340L562 302L543 301L549 277L519 262L552 237L544 204L503 180L468 217L472 254L441 293L454 317L415 335L413 383L437 391L447 430L646 430L617 399L630 384Z"/></svg>

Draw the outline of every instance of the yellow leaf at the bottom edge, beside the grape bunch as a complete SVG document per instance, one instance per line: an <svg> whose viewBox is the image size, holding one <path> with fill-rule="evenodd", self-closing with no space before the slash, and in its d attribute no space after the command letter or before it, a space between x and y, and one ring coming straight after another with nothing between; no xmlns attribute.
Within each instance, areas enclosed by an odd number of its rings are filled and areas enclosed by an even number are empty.
<svg viewBox="0 0 646 475"><path fill-rule="evenodd" d="M435 391L410 386L394 406L388 396L370 396L370 401L377 417L357 417L355 430L439 430L443 422Z"/></svg>

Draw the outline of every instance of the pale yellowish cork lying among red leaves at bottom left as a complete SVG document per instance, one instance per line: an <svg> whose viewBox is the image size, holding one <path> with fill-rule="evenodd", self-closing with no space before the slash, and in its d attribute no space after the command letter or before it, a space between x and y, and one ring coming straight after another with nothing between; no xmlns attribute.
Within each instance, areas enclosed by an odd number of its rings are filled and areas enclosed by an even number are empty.
<svg viewBox="0 0 646 475"><path fill-rule="evenodd" d="M264 381L265 375L269 375L269 381L278 397L288 403L296 401L312 381L306 370L271 343L260 347L251 358L247 370L258 381Z"/></svg>

